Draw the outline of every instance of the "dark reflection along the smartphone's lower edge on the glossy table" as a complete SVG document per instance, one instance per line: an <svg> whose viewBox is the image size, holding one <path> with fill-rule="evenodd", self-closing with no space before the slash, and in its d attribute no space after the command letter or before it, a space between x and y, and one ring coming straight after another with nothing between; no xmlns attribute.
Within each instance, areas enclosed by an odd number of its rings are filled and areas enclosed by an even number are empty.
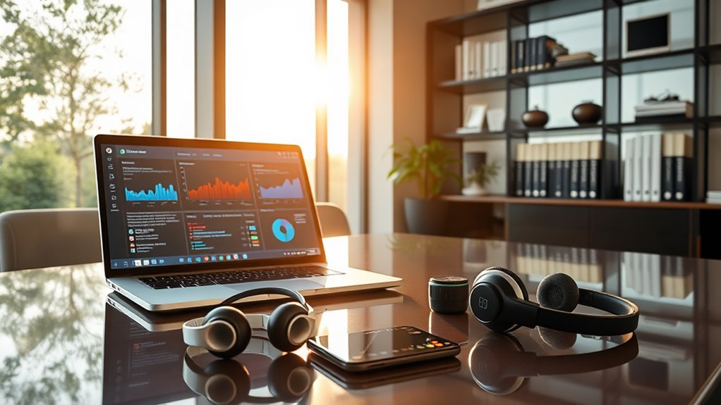
<svg viewBox="0 0 721 405"><path fill-rule="evenodd" d="M353 373L333 365L315 353L311 353L308 359L313 368L319 370L324 376L345 389L385 386L386 384L400 383L443 373L453 373L461 369L461 361L457 358L441 358L376 370L373 373Z"/></svg>

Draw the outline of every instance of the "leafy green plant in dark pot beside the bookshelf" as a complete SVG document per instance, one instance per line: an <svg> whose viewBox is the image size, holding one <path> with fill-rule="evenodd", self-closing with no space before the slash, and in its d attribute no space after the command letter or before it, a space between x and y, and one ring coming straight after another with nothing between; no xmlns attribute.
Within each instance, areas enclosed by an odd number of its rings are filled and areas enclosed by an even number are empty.
<svg viewBox="0 0 721 405"><path fill-rule="evenodd" d="M459 159L453 150L439 140L417 145L407 139L405 146L393 145L393 168L388 178L395 184L415 181L420 198L404 201L408 230L412 233L442 235L446 227L448 201L435 199L448 179L457 181L460 176L451 170Z"/></svg>

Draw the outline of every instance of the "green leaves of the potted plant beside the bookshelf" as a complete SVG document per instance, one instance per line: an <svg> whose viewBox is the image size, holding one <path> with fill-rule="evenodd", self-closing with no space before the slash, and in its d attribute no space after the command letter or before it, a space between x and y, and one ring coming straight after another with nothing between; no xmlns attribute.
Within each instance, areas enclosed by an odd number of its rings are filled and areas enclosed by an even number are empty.
<svg viewBox="0 0 721 405"><path fill-rule="evenodd" d="M418 192L422 199L431 199L441 193L443 183L453 179L461 183L461 178L451 168L459 162L453 158L453 151L439 140L416 145L411 139L407 147L399 151L398 145L392 145L395 164L388 178L400 184L417 181Z"/></svg>

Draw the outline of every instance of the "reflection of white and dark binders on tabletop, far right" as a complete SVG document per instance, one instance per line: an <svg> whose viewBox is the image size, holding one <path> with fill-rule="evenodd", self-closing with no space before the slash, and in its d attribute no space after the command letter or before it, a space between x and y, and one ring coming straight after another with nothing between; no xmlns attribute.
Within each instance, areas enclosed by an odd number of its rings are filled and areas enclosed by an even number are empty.
<svg viewBox="0 0 721 405"><path fill-rule="evenodd" d="M685 299L694 289L684 258L624 252L625 286L642 296Z"/></svg>

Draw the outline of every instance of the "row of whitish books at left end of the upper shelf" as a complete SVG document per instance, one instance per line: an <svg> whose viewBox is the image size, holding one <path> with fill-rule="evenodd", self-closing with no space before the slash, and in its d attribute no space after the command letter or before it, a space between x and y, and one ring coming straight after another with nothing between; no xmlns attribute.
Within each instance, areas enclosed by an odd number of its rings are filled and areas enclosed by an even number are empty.
<svg viewBox="0 0 721 405"><path fill-rule="evenodd" d="M456 45L456 81L505 76L506 42L468 37Z"/></svg>

